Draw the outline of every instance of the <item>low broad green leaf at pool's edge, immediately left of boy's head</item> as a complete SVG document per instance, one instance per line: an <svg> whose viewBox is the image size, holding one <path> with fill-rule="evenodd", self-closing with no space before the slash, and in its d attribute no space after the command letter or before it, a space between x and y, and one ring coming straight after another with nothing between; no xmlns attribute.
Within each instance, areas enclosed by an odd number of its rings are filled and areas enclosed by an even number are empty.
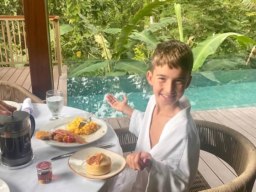
<svg viewBox="0 0 256 192"><path fill-rule="evenodd" d="M119 60L116 65L114 65L114 68L133 71L139 75L146 74L148 71L148 67L139 60Z"/></svg>

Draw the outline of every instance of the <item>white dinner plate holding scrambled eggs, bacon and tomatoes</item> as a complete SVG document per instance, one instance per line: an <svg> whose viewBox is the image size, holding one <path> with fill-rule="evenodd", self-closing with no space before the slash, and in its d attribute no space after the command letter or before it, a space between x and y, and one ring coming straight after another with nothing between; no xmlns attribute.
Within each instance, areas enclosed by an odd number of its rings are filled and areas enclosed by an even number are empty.
<svg viewBox="0 0 256 192"><path fill-rule="evenodd" d="M43 126L40 130L45 130L49 132L53 132L56 129L68 129L68 124L73 122L76 117L65 117L61 119L54 120L45 126ZM74 147L74 146L81 146L86 145L88 143L94 142L100 138L103 137L103 135L107 132L107 124L103 122L100 119L97 118L91 118L91 121L94 121L98 124L98 130L90 135L79 135L87 143L63 143L63 142L57 142L53 139L50 140L43 140L45 143L49 145L55 145L55 146L61 146L61 147Z"/></svg>

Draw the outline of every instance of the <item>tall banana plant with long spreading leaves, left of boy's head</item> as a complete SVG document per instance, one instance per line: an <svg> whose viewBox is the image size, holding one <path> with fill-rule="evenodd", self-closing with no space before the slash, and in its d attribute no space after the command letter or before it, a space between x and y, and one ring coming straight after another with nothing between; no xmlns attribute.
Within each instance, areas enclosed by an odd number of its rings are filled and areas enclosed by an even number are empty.
<svg viewBox="0 0 256 192"><path fill-rule="evenodd" d="M146 5L143 9L139 10L137 14L130 16L129 22L121 30L116 28L104 30L106 33L117 35L117 41L115 42L114 49L110 49L109 45L106 43L99 43L97 47L97 49L100 49L101 52L105 52L104 55L108 55L106 48L112 50L112 57L108 58L111 61L103 61L92 65L97 66L97 68L107 68L108 70L106 75L124 75L127 73L127 71L131 71L137 74L145 74L148 70L148 66L145 65L145 63L137 60L124 60L124 58L126 58L124 54L130 51L138 41L145 42L148 44L149 48L155 48L159 41L156 39L150 29L138 33L136 27L140 24L145 16L153 15L158 7L164 6L172 1L173 0L155 0L154 2ZM83 18L83 16L81 17ZM89 28L91 31L92 29L95 29L94 26L91 25L86 18L83 18L83 21L87 23L87 28ZM175 20L173 18L166 18L165 20L161 20L160 23L154 23L155 25L152 25L151 29L153 31L158 30L174 21ZM95 39L98 38L97 31L94 31L94 37ZM105 48L103 48L103 46L105 46ZM119 61L121 58L123 60ZM70 72L69 76L79 76L80 74L89 72L92 68L94 68L92 65L88 66L88 62L84 62L82 65L84 68L78 66L78 68Z"/></svg>

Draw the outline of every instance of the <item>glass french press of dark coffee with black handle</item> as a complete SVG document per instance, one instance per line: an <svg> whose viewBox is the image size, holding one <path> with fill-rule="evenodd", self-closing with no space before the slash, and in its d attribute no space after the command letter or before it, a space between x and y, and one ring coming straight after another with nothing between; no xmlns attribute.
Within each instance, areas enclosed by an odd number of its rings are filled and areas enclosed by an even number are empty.
<svg viewBox="0 0 256 192"><path fill-rule="evenodd" d="M25 111L14 111L12 116L0 115L0 166L2 168L20 169L34 161L31 147L34 129L34 117Z"/></svg>

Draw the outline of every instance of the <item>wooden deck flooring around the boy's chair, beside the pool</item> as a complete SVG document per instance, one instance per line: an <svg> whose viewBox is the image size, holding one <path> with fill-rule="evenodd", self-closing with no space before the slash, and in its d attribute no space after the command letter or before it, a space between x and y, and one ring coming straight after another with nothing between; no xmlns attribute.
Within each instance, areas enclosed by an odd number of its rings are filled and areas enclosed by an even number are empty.
<svg viewBox="0 0 256 192"><path fill-rule="evenodd" d="M212 121L233 128L256 145L256 107L196 111L192 112L192 116L194 119ZM130 123L128 117L107 118L105 121L113 128L128 127ZM198 170L211 187L221 186L237 177L235 171L226 162L202 150ZM252 191L256 192L256 185Z"/></svg>

